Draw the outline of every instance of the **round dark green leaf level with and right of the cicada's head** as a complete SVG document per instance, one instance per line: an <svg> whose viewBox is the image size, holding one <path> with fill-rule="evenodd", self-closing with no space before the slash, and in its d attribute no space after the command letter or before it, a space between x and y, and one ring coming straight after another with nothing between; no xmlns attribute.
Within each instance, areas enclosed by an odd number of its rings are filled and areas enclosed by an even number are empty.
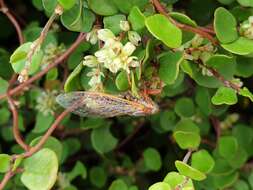
<svg viewBox="0 0 253 190"><path fill-rule="evenodd" d="M175 112L180 117L192 117L195 114L195 106L191 98L180 98L175 105Z"/></svg>

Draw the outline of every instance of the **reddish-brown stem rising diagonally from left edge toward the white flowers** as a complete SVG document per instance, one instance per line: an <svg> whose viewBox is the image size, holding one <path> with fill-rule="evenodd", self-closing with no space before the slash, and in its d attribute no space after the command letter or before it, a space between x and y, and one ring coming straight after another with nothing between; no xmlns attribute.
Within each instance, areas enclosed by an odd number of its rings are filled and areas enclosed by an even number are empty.
<svg viewBox="0 0 253 190"><path fill-rule="evenodd" d="M78 45L83 42L83 40L85 39L85 36L86 35L84 33L80 33L79 36L78 36L78 38L76 39L76 41L70 46L70 48L67 51L65 51L60 57L58 57L57 59L55 59L53 61L53 63L49 64L44 70L40 71L39 73L37 73L33 77L29 78L27 81L19 84L17 87L11 89L9 91L9 95L13 96L14 94L17 94L17 93L21 92L25 87L27 87L28 85L30 85L34 81L40 79L49 70L51 70L52 68L54 68L57 65L61 64L78 47ZM0 95L0 100L4 99L6 97L7 97L7 93L6 94L2 94L2 95Z"/></svg>

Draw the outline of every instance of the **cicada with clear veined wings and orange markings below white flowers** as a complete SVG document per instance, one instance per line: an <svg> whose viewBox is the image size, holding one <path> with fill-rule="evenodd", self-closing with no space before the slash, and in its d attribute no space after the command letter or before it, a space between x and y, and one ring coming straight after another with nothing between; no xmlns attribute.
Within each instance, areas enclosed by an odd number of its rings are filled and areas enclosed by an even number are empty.
<svg viewBox="0 0 253 190"><path fill-rule="evenodd" d="M158 105L148 96L134 97L131 93L111 95L93 91L60 94L56 101L82 117L145 116L158 112ZM73 106L75 105L75 106Z"/></svg>

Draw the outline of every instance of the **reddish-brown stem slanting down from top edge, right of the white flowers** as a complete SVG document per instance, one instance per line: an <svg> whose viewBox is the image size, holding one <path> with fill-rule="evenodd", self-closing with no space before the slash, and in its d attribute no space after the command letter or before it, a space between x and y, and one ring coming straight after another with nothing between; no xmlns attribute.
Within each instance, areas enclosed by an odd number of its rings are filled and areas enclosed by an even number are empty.
<svg viewBox="0 0 253 190"><path fill-rule="evenodd" d="M184 31L189 31L189 32L193 32L193 33L199 34L203 38L207 38L214 45L218 44L218 41L216 39L214 39L214 37L207 32L207 30L209 32L212 31L212 30L210 30L210 29L203 29L203 27L192 27L192 26L189 26L189 25L185 25L185 24L179 23L179 22L175 21L173 18L171 18L169 16L169 14L167 13L167 11L165 10L165 8L163 7L163 5L160 3L159 0L151 0L151 2L152 2L152 4L154 5L154 7L156 8L156 10L159 13L163 14L164 16L166 16L178 28L181 28Z"/></svg>

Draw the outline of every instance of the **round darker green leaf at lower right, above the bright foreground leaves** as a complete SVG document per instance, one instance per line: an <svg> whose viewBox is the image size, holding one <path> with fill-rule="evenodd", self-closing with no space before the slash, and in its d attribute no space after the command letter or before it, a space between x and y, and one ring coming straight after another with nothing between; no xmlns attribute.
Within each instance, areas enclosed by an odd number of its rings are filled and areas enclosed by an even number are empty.
<svg viewBox="0 0 253 190"><path fill-rule="evenodd" d="M229 159L235 155L238 149L238 142L233 136L223 136L218 142L219 154L225 159Z"/></svg>

